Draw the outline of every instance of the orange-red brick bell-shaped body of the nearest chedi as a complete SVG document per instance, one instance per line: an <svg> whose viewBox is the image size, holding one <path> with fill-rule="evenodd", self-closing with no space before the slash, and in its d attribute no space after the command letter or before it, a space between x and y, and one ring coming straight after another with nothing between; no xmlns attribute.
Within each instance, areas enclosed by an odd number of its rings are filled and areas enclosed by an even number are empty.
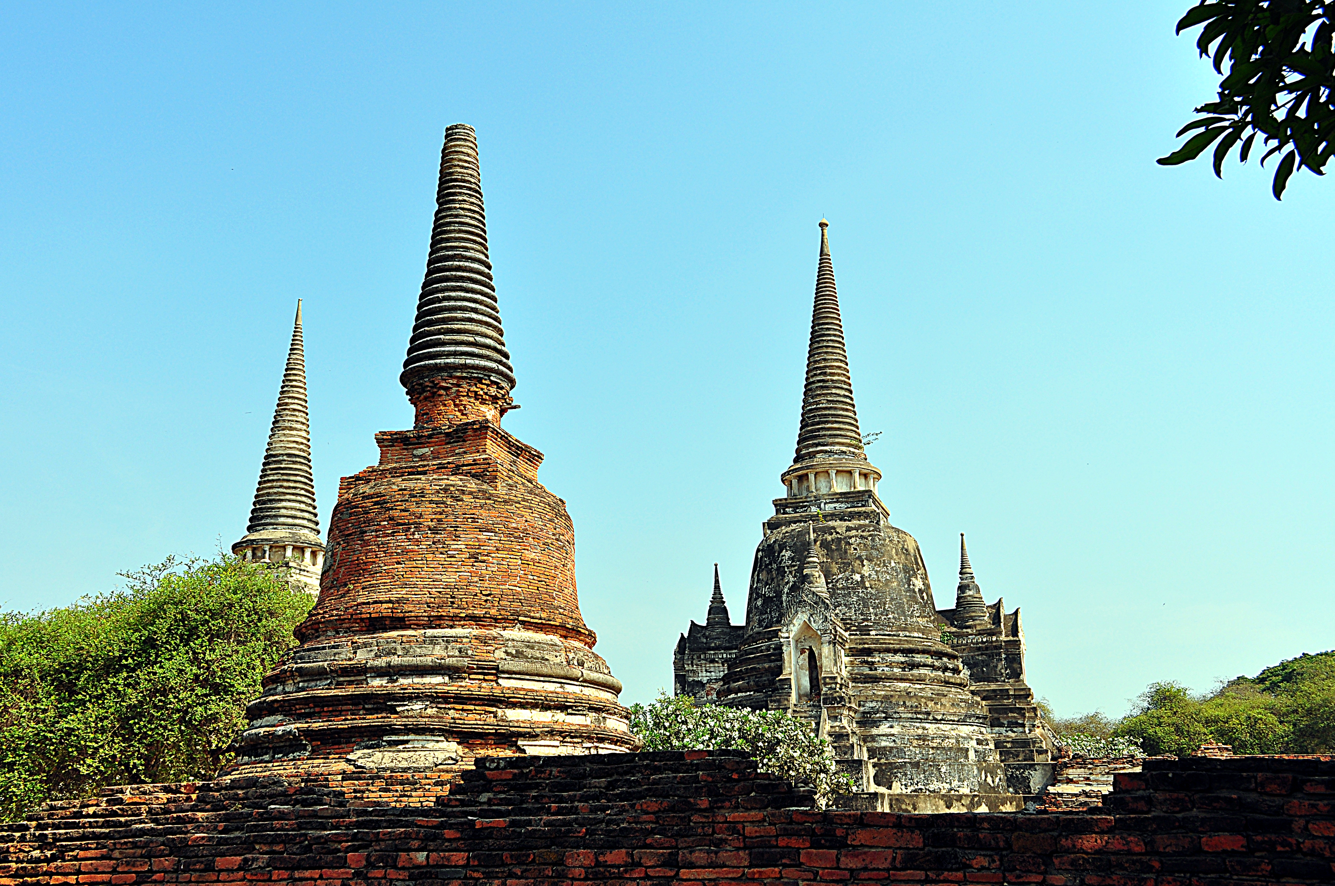
<svg viewBox="0 0 1335 886"><path fill-rule="evenodd" d="M574 526L537 480L537 450L487 422L376 443L380 463L339 484L320 600L299 639L466 624L594 644Z"/></svg>

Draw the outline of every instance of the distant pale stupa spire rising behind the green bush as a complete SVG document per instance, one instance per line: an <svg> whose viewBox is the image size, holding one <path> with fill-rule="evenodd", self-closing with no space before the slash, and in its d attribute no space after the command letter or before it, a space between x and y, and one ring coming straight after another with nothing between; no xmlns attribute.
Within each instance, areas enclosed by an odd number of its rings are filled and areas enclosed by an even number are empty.
<svg viewBox="0 0 1335 886"><path fill-rule="evenodd" d="M302 346L302 300L296 300L292 343L278 388L278 406L268 432L264 463L255 487L246 536L232 554L247 560L282 563L292 587L320 592L324 543L315 511L311 471L311 420L306 406L306 354Z"/></svg>

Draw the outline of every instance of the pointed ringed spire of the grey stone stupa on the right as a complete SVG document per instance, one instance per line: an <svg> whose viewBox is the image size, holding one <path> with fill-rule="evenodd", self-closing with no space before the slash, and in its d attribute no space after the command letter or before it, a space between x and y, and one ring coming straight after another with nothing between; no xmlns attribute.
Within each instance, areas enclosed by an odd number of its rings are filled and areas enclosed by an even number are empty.
<svg viewBox="0 0 1335 886"><path fill-rule="evenodd" d="M816 270L816 303L812 307L802 424L797 432L794 464L822 458L866 459L853 404L838 292L834 290L834 264L826 234L829 222L821 219L820 226L821 255Z"/></svg>

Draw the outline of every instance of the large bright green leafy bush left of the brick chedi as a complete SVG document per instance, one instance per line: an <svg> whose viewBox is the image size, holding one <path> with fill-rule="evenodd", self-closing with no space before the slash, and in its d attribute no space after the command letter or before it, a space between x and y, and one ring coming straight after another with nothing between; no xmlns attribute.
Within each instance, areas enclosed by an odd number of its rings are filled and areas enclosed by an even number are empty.
<svg viewBox="0 0 1335 886"><path fill-rule="evenodd" d="M75 606L0 614L0 818L215 774L312 603L230 555L123 578Z"/></svg>

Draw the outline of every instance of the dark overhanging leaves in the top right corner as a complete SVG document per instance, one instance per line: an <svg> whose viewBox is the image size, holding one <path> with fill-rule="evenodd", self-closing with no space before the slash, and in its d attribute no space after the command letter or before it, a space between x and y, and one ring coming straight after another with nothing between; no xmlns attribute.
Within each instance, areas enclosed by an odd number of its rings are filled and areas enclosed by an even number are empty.
<svg viewBox="0 0 1335 886"><path fill-rule="evenodd" d="M1283 155L1271 189L1279 200L1299 167L1324 175L1335 153L1335 4L1323 0L1202 0L1177 21L1177 33L1200 27L1196 48L1222 75L1219 95L1177 135L1193 133L1159 163L1195 160L1215 144L1215 175L1238 147L1246 163L1256 136L1260 161ZM1218 143L1218 144L1216 144Z"/></svg>

